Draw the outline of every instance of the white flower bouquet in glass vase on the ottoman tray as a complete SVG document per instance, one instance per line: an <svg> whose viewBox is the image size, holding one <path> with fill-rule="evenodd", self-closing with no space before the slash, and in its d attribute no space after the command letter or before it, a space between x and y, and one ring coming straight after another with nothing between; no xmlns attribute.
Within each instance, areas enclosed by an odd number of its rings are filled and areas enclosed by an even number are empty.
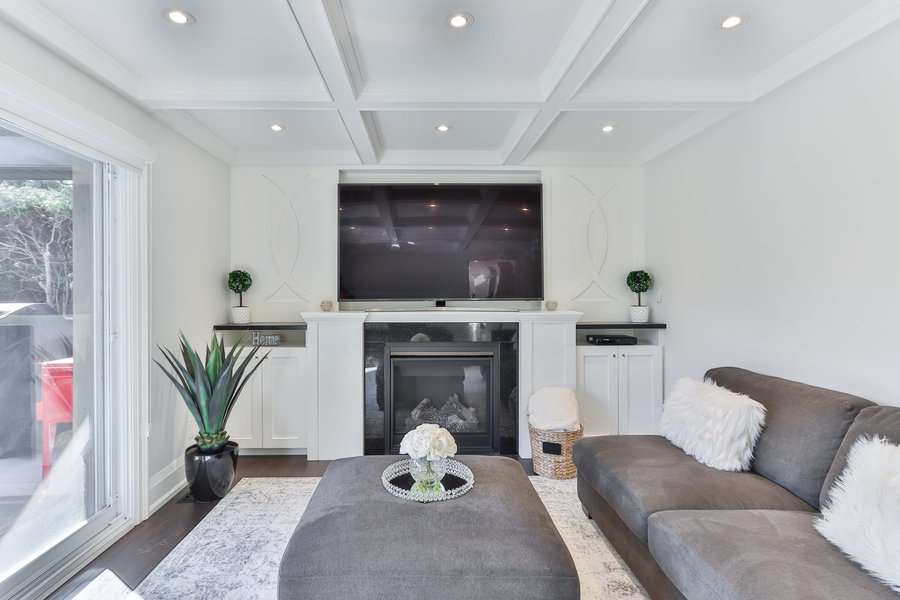
<svg viewBox="0 0 900 600"><path fill-rule="evenodd" d="M436 494L444 489L441 479L447 472L447 459L456 455L456 440L443 427L425 423L403 436L400 453L409 455L409 474L416 481L413 490Z"/></svg>

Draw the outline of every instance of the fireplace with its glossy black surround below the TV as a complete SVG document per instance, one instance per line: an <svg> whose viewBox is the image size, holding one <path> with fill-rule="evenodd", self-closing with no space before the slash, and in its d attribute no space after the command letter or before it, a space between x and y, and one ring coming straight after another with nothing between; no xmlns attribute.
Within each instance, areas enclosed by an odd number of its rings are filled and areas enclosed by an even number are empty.
<svg viewBox="0 0 900 600"><path fill-rule="evenodd" d="M366 325L366 454L397 454L406 432L423 423L449 430L460 453L515 454L517 329Z"/></svg>

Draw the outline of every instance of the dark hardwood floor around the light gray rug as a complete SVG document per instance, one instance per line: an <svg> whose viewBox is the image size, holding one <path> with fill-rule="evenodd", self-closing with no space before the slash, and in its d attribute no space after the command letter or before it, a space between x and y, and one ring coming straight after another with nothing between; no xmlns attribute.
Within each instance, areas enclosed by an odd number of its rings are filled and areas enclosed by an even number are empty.
<svg viewBox="0 0 900 600"><path fill-rule="evenodd" d="M530 460L519 461L526 473L534 474ZM321 477L327 466L328 461L308 461L305 456L241 456L237 481L244 477ZM129 588L136 588L216 505L215 502L182 502L186 493L179 494L129 531L50 598L70 600L106 569Z"/></svg>

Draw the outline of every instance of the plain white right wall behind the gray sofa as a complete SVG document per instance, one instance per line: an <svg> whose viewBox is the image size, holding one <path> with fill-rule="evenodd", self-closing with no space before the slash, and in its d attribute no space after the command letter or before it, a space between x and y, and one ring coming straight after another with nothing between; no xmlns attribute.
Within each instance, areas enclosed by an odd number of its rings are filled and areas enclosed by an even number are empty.
<svg viewBox="0 0 900 600"><path fill-rule="evenodd" d="M736 365L900 405L900 26L646 168L667 384Z"/></svg>

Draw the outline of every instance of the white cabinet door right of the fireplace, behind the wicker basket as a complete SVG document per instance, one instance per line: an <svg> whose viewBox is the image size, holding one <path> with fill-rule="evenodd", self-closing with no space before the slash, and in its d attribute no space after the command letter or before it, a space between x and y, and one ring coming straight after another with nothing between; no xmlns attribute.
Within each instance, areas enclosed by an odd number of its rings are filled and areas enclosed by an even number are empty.
<svg viewBox="0 0 900 600"><path fill-rule="evenodd" d="M619 433L619 368L615 346L577 349L578 411L584 435Z"/></svg>

